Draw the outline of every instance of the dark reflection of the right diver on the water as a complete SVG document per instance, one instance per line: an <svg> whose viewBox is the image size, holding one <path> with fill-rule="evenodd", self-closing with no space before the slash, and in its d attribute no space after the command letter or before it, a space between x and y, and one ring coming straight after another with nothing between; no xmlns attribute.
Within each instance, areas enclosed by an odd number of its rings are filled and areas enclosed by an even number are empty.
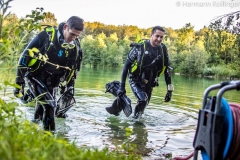
<svg viewBox="0 0 240 160"><path fill-rule="evenodd" d="M118 117L109 117L106 119L107 126L111 129L109 141L112 147L119 146L125 152L135 152L141 155L148 155L152 148L147 146L148 131L146 126L141 122L122 121Z"/></svg>

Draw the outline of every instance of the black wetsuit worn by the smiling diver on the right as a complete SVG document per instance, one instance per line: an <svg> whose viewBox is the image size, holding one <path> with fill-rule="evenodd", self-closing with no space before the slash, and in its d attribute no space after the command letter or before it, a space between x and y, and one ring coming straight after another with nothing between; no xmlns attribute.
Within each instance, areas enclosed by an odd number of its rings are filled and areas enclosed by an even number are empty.
<svg viewBox="0 0 240 160"><path fill-rule="evenodd" d="M132 92L138 99L134 114L144 111L151 99L153 87L158 85L156 78L161 72L165 75L166 85L171 84L167 47L164 44L152 47L150 41L144 43L145 47L144 44L135 45L130 51L121 78L121 82L125 83L127 75L129 76ZM131 73L134 62L138 63L138 69Z"/></svg>

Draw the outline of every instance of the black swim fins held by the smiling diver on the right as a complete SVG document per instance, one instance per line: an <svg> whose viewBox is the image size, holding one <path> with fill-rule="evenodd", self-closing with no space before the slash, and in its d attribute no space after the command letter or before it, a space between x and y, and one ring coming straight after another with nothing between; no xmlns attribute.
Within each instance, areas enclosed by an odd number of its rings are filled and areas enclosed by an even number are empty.
<svg viewBox="0 0 240 160"><path fill-rule="evenodd" d="M123 110L124 114L129 117L132 114L131 100L125 93L118 96L117 90L120 85L119 81L113 81L106 84L106 92L112 93L115 97L117 97L113 101L112 106L106 107L106 110L108 113L114 114L115 116L118 116Z"/></svg>

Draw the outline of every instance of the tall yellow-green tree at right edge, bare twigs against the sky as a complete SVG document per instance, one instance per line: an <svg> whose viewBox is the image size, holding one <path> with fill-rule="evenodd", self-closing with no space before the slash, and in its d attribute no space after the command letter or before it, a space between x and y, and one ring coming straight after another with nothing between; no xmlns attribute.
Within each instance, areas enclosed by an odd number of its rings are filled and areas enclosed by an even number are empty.
<svg viewBox="0 0 240 160"><path fill-rule="evenodd" d="M210 64L219 63L221 60L225 64L239 60L239 12L219 16L209 25L205 34L205 48L211 55Z"/></svg>

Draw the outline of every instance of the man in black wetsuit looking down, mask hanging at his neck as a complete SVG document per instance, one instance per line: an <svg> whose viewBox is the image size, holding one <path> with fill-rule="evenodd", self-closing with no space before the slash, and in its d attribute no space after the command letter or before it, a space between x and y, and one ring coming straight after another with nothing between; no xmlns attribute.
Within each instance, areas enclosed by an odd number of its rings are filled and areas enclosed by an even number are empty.
<svg viewBox="0 0 240 160"><path fill-rule="evenodd" d="M78 37L83 29L84 21L77 16L59 24L58 29L48 26L28 44L19 59L14 95L22 98L20 92L26 80L28 95L37 98L34 120L42 120L46 130L55 130L56 94L60 84L65 83L61 93L72 88L69 94L74 95L74 81L82 61Z"/></svg>

